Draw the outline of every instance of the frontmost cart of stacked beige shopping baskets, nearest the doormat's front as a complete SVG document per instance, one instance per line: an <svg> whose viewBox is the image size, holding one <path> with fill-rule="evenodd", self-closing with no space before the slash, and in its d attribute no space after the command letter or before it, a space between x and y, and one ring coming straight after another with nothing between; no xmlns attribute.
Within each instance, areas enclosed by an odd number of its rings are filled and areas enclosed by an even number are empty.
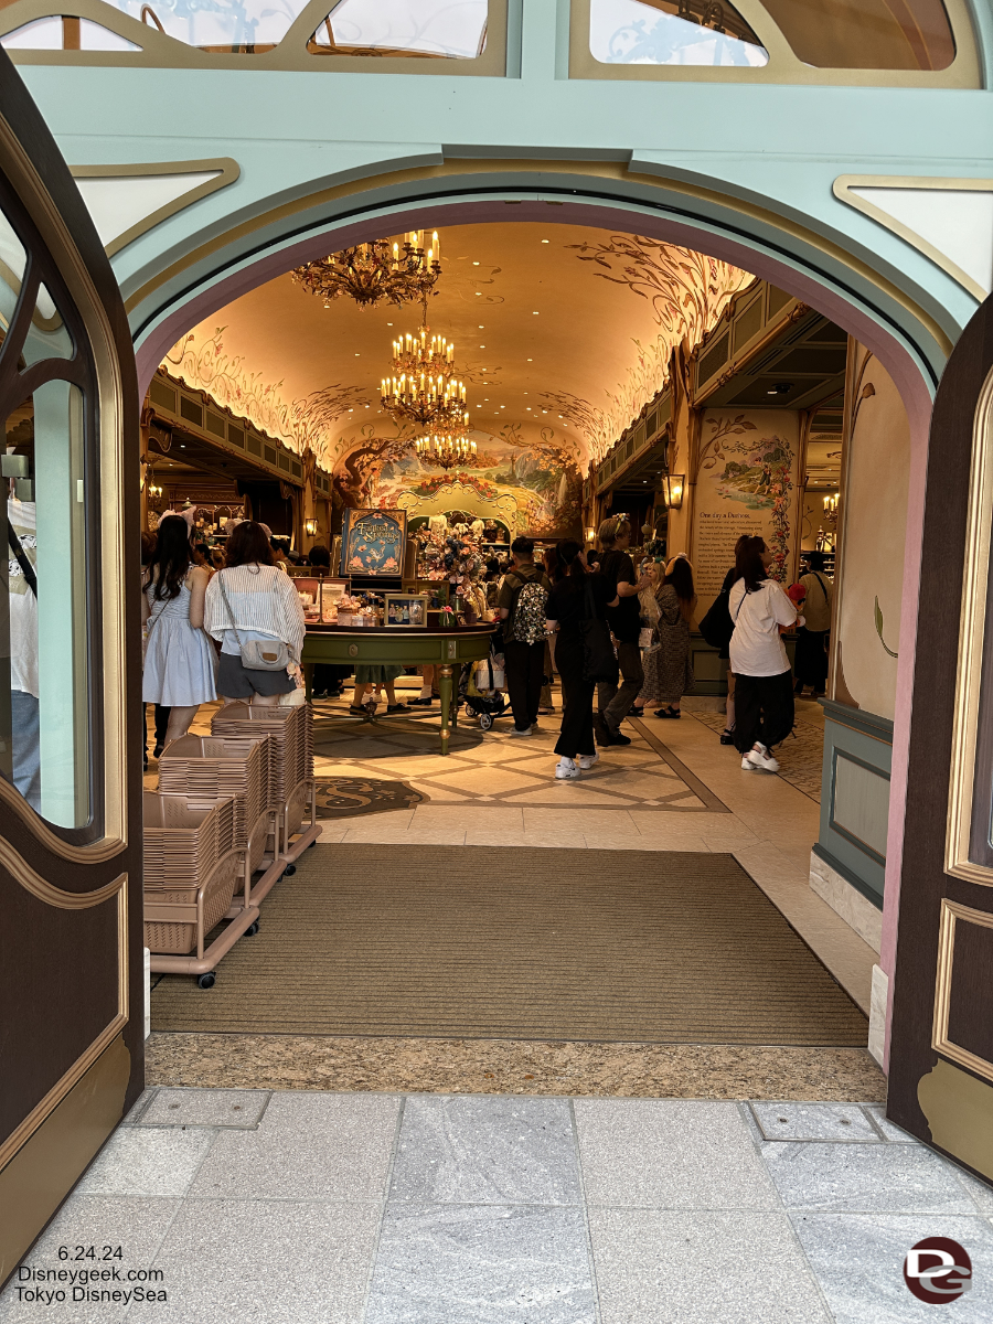
<svg viewBox="0 0 993 1324"><path fill-rule="evenodd" d="M222 932L208 933L228 915ZM258 929L244 847L234 845L234 798L144 792L144 941L156 974L195 974L201 989L237 940ZM191 955L193 953L193 955Z"/></svg>

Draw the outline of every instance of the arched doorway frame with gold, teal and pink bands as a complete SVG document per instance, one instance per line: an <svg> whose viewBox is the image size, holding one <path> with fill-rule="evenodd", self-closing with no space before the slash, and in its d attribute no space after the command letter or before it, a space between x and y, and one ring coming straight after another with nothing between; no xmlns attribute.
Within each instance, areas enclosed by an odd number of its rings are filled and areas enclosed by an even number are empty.
<svg viewBox="0 0 993 1324"><path fill-rule="evenodd" d="M522 167L526 164L526 169ZM528 188L527 175L540 176ZM410 176L414 176L413 179ZM735 209L727 196L671 180L632 187L609 166L563 163L478 163L412 169L397 181L387 175L347 191L347 207L323 196L302 199L291 217L273 214L270 229L256 222L265 242L245 253L244 236L232 252L220 241L212 253L191 253L169 270L169 281L148 282L130 295L136 327L139 372L147 383L162 355L191 326L267 279L315 256L381 233L424 225L557 222L632 232L706 252L776 283L828 315L874 354L903 400L910 426L910 485L903 555L899 677L894 720L887 861L898 861L903 834L903 784L910 733L910 679L914 674L920 520L924 499L931 397L949 342L943 328L888 281L851 254L802 226L785 228L759 205ZM420 179L417 179L420 176ZM653 193L657 199L653 199ZM626 195L626 196L625 196ZM311 220L334 211L334 224ZM303 224L307 218L308 224ZM265 220L265 218L263 218ZM234 252L241 249L241 252ZM196 277L196 279L193 278ZM185 282L185 283L184 283ZM173 293L175 291L175 293ZM896 935L896 866L887 865L880 967L892 968Z"/></svg>

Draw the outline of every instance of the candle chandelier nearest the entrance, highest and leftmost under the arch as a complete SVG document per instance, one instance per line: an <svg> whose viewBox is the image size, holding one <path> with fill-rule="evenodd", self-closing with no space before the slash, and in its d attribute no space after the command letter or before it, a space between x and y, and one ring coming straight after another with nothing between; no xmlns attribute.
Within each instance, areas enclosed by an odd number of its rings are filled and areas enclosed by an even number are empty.
<svg viewBox="0 0 993 1324"><path fill-rule="evenodd" d="M434 230L425 249L425 238L424 230L409 230L402 245L397 241L391 245L389 240L356 244L295 267L293 279L322 298L326 308L343 294L363 308L417 299L426 307L441 275L441 240Z"/></svg>

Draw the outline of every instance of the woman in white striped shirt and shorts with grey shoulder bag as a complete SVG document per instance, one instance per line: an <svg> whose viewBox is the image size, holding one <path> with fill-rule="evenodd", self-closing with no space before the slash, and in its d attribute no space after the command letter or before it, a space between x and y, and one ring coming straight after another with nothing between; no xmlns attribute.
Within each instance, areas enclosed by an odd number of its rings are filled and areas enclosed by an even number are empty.
<svg viewBox="0 0 993 1324"><path fill-rule="evenodd" d="M242 520L228 539L226 564L207 589L204 625L221 642L217 688L225 703L275 707L297 688L287 667L301 659L303 605L254 520Z"/></svg>

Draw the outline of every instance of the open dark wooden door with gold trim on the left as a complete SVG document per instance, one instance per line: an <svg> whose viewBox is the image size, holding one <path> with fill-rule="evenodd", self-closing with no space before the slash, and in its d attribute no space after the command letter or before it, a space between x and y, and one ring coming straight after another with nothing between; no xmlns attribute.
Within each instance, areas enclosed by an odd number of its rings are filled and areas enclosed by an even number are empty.
<svg viewBox="0 0 993 1324"><path fill-rule="evenodd" d="M3 50L0 421L3 1283L140 1091L144 1042L135 361Z"/></svg>

